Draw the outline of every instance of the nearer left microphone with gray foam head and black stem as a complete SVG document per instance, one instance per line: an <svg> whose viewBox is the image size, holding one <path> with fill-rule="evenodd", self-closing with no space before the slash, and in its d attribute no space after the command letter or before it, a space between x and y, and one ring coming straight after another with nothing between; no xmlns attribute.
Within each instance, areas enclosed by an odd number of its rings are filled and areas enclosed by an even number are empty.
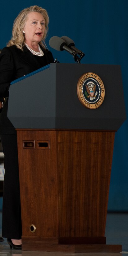
<svg viewBox="0 0 128 256"><path fill-rule="evenodd" d="M73 56L76 55L76 52L74 51L74 49L70 49L69 47L67 47L65 40L62 39L61 37L57 37L57 36L51 37L49 40L49 45L57 51L65 50Z"/></svg>

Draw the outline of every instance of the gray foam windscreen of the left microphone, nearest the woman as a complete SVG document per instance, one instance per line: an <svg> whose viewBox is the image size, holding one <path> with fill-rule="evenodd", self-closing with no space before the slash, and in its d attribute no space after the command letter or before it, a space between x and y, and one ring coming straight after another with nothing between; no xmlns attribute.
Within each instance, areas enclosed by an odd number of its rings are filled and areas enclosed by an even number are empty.
<svg viewBox="0 0 128 256"><path fill-rule="evenodd" d="M49 45L57 51L63 51L62 47L66 45L66 42L62 38L54 36L50 38Z"/></svg>

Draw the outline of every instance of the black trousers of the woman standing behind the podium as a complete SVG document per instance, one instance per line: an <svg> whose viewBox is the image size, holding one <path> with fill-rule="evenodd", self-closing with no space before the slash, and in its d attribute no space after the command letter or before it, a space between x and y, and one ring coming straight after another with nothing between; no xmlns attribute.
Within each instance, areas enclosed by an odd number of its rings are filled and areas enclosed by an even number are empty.
<svg viewBox="0 0 128 256"><path fill-rule="evenodd" d="M2 237L21 239L21 202L18 169L17 136L1 134L4 153Z"/></svg>

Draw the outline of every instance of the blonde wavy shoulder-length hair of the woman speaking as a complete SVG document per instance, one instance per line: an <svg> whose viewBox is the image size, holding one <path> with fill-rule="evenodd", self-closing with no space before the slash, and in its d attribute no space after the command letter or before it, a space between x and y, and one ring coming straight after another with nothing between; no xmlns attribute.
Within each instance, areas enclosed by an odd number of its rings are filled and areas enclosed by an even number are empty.
<svg viewBox="0 0 128 256"><path fill-rule="evenodd" d="M13 23L13 28L12 28L12 37L11 40L7 43L7 46L11 45L16 45L17 48L21 49L23 51L23 46L25 45L25 38L23 34L23 29L25 27L25 23L28 18L28 14L30 12L39 12L43 15L44 20L45 20L45 32L42 41L39 42L39 44L46 49L46 44L45 44L45 38L48 33L48 23L49 23L49 17L48 17L48 12L43 9L42 7L39 7L37 5L30 6L28 8L23 9L16 19L14 20Z"/></svg>

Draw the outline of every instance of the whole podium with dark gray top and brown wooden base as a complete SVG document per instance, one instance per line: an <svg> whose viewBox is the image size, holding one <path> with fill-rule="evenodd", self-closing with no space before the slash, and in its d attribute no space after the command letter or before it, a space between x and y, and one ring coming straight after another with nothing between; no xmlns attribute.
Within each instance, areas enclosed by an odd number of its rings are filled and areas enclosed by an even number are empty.
<svg viewBox="0 0 128 256"><path fill-rule="evenodd" d="M98 74L105 98L88 109L77 82ZM120 252L105 238L115 132L126 119L119 65L51 63L10 86L17 130L22 250Z"/></svg>

